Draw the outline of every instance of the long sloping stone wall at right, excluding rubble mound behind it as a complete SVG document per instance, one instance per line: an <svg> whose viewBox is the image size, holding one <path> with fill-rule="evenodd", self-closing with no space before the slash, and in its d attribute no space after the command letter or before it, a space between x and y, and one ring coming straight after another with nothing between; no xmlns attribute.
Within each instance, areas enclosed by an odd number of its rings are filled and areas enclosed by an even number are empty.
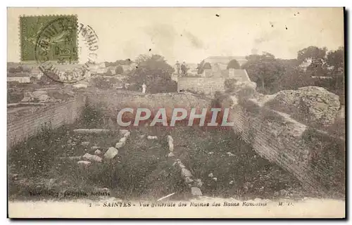
<svg viewBox="0 0 352 225"><path fill-rule="evenodd" d="M235 105L230 115L234 131L263 158L294 174L313 192L343 196L345 141L307 127L289 115L252 101Z"/></svg>

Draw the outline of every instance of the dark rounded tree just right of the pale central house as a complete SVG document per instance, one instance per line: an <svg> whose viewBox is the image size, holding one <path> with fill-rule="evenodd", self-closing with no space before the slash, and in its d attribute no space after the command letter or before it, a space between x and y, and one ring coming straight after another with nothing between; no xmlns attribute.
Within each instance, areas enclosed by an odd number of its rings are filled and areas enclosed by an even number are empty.
<svg viewBox="0 0 352 225"><path fill-rule="evenodd" d="M274 83L284 75L284 64L270 53L246 56L242 68L248 72L251 81L256 82L261 91L272 92Z"/></svg>

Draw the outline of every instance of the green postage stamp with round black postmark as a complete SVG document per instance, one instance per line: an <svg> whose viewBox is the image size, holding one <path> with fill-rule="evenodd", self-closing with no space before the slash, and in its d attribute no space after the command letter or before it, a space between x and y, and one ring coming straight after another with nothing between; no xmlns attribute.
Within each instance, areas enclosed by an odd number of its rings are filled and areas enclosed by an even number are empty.
<svg viewBox="0 0 352 225"><path fill-rule="evenodd" d="M20 17L20 51L23 62L77 61L77 15Z"/></svg>

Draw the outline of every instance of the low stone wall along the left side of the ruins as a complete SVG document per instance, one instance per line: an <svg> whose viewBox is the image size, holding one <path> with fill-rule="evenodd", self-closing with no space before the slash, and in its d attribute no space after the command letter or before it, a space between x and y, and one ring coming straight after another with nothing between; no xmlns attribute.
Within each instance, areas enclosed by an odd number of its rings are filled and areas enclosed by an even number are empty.
<svg viewBox="0 0 352 225"><path fill-rule="evenodd" d="M56 129L63 124L72 124L80 117L84 105L85 96L77 96L63 103L8 110L7 149L37 134L43 127Z"/></svg>

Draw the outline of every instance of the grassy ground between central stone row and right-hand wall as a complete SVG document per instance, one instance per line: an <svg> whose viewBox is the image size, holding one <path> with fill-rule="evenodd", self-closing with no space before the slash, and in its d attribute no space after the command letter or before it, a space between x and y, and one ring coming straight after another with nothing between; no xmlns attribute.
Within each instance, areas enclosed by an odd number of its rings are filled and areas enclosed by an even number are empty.
<svg viewBox="0 0 352 225"><path fill-rule="evenodd" d="M203 181L204 195L243 199L309 195L294 176L261 158L233 131L180 127L172 136L176 156Z"/></svg>

